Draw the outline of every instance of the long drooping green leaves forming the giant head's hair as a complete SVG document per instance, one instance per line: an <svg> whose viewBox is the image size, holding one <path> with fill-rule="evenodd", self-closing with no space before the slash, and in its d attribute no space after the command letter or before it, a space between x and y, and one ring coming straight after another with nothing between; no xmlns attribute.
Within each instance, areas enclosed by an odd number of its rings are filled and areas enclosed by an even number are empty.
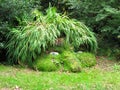
<svg viewBox="0 0 120 90"><path fill-rule="evenodd" d="M10 31L7 43L8 60L10 63L32 63L48 46L55 45L55 41L65 34L66 42L74 47L82 44L95 51L97 42L94 34L81 22L60 15L54 7L50 7L43 15L35 10L36 21L28 22L21 28Z"/></svg>

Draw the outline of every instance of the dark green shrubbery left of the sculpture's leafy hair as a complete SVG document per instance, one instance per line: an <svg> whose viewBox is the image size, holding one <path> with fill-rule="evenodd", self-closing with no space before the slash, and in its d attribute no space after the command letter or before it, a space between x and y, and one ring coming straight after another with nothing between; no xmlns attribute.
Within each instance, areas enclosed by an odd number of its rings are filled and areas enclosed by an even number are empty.
<svg viewBox="0 0 120 90"><path fill-rule="evenodd" d="M11 27L23 25L31 19L29 13L34 8L39 9L39 4L39 0L0 0L0 60L6 57L6 34Z"/></svg>

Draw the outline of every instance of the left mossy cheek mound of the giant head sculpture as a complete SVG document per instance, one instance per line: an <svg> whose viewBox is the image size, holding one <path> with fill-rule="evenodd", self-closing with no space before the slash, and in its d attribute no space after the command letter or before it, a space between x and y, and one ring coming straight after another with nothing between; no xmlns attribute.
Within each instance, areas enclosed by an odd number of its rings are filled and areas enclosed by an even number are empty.
<svg viewBox="0 0 120 90"><path fill-rule="evenodd" d="M33 63L33 67L39 71L56 71L60 68L59 55L44 54Z"/></svg>

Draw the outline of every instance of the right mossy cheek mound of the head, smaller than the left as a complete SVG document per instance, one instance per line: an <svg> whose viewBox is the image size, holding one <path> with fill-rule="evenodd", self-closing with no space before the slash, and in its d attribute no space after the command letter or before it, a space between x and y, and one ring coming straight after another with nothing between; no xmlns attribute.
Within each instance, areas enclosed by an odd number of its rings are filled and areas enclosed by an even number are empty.
<svg viewBox="0 0 120 90"><path fill-rule="evenodd" d="M94 54L88 52L82 52L82 53L77 53L76 56L81 62L82 67L91 67L96 64L96 58Z"/></svg>

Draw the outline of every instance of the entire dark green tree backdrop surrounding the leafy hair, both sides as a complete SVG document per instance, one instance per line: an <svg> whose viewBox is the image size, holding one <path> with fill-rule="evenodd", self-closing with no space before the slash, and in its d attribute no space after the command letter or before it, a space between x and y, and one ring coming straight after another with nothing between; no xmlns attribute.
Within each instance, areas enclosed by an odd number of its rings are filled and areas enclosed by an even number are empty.
<svg viewBox="0 0 120 90"><path fill-rule="evenodd" d="M49 6L84 22L96 33L100 47L120 47L119 0L0 0L0 60L5 58L6 33L31 20L30 12L37 8L45 12ZM22 22L22 23L21 23Z"/></svg>

